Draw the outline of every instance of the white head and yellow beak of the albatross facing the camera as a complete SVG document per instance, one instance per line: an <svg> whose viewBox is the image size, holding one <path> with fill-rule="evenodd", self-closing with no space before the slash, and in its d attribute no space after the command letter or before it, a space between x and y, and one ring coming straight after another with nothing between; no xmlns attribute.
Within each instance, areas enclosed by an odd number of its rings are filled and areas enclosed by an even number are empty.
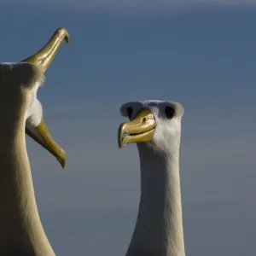
<svg viewBox="0 0 256 256"><path fill-rule="evenodd" d="M120 113L130 122L119 125L119 148L128 143L144 143L155 151L166 152L179 146L183 116L180 103L127 102L121 106Z"/></svg>

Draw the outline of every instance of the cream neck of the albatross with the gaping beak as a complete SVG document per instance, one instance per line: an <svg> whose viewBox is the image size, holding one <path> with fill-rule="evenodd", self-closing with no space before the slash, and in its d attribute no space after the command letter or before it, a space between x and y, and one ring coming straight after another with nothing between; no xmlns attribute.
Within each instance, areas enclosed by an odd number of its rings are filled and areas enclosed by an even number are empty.
<svg viewBox="0 0 256 256"><path fill-rule="evenodd" d="M26 154L25 120L1 116L0 255L55 255L38 215Z"/></svg>

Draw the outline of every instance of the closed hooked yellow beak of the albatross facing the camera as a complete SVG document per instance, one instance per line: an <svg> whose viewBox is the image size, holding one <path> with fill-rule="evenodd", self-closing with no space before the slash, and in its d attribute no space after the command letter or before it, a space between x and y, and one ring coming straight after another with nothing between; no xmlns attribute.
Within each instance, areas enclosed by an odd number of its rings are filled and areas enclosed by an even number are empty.
<svg viewBox="0 0 256 256"><path fill-rule="evenodd" d="M151 142L155 127L154 113L150 109L144 108L131 122L122 123L119 126L119 148L128 143Z"/></svg>

